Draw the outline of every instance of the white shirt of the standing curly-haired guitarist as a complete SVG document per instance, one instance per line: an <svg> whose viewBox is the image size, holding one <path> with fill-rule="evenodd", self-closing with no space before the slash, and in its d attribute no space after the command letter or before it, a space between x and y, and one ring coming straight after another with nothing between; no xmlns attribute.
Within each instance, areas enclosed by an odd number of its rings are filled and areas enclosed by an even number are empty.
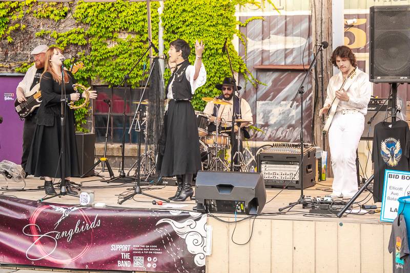
<svg viewBox="0 0 410 273"><path fill-rule="evenodd" d="M349 101L340 101L336 111L358 110L363 115L366 115L367 104L370 102L370 97L373 93L373 85L368 79L369 77L366 73L356 68L356 75L351 79L353 80L352 84L348 86L347 90L343 88L349 96ZM330 78L324 105L332 105L333 99L336 97L336 90L339 90L342 84L343 75L341 72Z"/></svg>

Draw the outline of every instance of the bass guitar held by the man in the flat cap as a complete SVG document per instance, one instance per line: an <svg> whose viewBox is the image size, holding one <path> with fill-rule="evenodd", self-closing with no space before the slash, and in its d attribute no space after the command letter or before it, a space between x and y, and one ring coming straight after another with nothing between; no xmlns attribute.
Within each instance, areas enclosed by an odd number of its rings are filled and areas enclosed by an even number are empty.
<svg viewBox="0 0 410 273"><path fill-rule="evenodd" d="M71 68L71 73L75 74L78 69L83 68L83 62L79 62ZM26 96L26 101L18 102L17 99L14 101L14 108L20 118L27 118L36 108L40 106L42 101L42 92L40 91L40 84L36 84Z"/></svg>

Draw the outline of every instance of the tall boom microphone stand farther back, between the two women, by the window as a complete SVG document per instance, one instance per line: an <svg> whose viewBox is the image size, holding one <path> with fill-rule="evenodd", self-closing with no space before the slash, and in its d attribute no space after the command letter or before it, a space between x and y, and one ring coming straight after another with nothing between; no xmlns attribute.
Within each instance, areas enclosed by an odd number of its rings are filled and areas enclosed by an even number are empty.
<svg viewBox="0 0 410 273"><path fill-rule="evenodd" d="M142 53L142 55L139 57L139 59L136 61L136 63L131 67L131 69L128 71L128 73L124 76L124 79L122 79L122 81L119 83L119 85L116 87L117 89L123 84L124 84L124 112L122 113L122 143L121 143L121 167L120 167L120 171L118 174L118 177L116 178L112 178L108 181L103 180L103 182L120 182L122 183L121 179L134 179L132 177L127 177L124 171L124 163L125 163L125 122L126 122L126 103L127 103L127 99L126 99L126 93L127 93L127 88L128 88L128 80L130 79L130 74L131 72L134 70L134 68L139 64L139 62L145 57L145 55L147 54L147 52L154 47L154 45L152 44L151 41L149 41L150 45L147 48L147 50ZM117 181L119 180L119 181Z"/></svg>

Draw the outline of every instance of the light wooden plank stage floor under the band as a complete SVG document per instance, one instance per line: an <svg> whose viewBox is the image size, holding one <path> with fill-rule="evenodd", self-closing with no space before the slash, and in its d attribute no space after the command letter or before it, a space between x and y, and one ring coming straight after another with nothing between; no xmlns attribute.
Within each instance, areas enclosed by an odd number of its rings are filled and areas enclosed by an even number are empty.
<svg viewBox="0 0 410 273"><path fill-rule="evenodd" d="M108 179L108 172L100 173L106 176ZM115 173L117 174L117 173ZM133 199L125 201L123 204L119 205L118 201L122 197L127 196L133 192L134 182L130 179L126 179L127 183L106 183L101 182L99 177L88 177L88 178L73 178L72 181L78 184L81 184L82 190L92 190L94 191L95 201L94 203L105 203L107 206L117 206L117 207L129 207L129 208L163 208L163 209L182 209L182 210L192 210L195 206L195 201L185 201L185 202L171 202L164 204L162 206L153 205L152 201L154 200L151 197L147 197L141 194L138 194ZM38 200L46 197L43 189L37 189L37 186L43 185L44 180L39 178L34 178L32 175L26 179L26 187L24 190L7 190L2 189L1 192L4 196L13 196L17 198L29 199L29 200ZM5 178L0 175L0 185L5 185ZM22 184L18 183L9 183L9 188L11 187L22 187ZM176 187L175 186L163 186L163 185L150 185L150 186L141 186L142 191L148 193L152 196L156 196L162 199L167 199L174 195ZM296 205L290 211L277 214L280 207L288 205L290 202L295 202L300 197L301 191L299 189L280 189L280 188L267 188L267 204L265 204L262 213L262 216L258 218L267 218L267 219L283 219L283 220L308 220L312 221L312 217L315 217L315 221L338 221L336 216L329 214L327 217L321 217L318 214L309 214L309 208L303 209L301 205ZM58 191L57 191L58 192ZM324 197L331 194L332 192L332 178L328 178L326 181L320 181L315 186L306 188L303 191L305 196L311 197ZM338 198L336 200L347 201L347 199ZM157 200L158 201L158 200ZM75 197L64 196L61 198L52 198L46 202L52 203L61 203L61 204L79 204L79 200ZM356 202L360 204L374 204L373 196L370 192L364 191L359 198L356 199ZM380 203L377 203L378 208L380 208ZM359 210L360 206L355 204L354 209ZM364 213L366 211L361 210L354 211L358 213ZM272 213L272 215L270 214ZM306 214L307 213L307 214ZM232 217L233 214L219 213L218 217ZM245 215L238 214L237 217L246 217ZM376 213L366 213L363 215L358 214L347 214L343 216L344 221L348 219L348 222L356 223L380 223L380 212Z"/></svg>

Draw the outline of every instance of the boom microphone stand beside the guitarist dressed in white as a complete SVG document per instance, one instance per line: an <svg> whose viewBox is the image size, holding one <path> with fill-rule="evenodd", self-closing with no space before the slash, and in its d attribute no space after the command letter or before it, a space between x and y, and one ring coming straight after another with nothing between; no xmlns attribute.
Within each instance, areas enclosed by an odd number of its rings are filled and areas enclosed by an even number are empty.
<svg viewBox="0 0 410 273"><path fill-rule="evenodd" d="M304 201L304 195L303 195L303 93L304 93L304 86L303 83L306 80L306 78L308 77L310 71L312 70L313 66L316 63L316 58L319 55L319 51L321 51L323 49L323 45L319 46L319 49L316 51L316 54L311 62L311 65L308 68L308 71L306 71L306 74L303 77L302 83L300 84L298 90L296 91L293 99L292 99L292 103L291 103L291 108L293 107L293 105L295 104L296 101L296 97L300 96L300 159L299 159L299 185L300 185L300 197L298 199L298 201L293 202L293 203L289 203L289 206L285 206L282 208L279 208L279 211L282 211L286 208L291 208L294 207L297 204L302 204Z"/></svg>

